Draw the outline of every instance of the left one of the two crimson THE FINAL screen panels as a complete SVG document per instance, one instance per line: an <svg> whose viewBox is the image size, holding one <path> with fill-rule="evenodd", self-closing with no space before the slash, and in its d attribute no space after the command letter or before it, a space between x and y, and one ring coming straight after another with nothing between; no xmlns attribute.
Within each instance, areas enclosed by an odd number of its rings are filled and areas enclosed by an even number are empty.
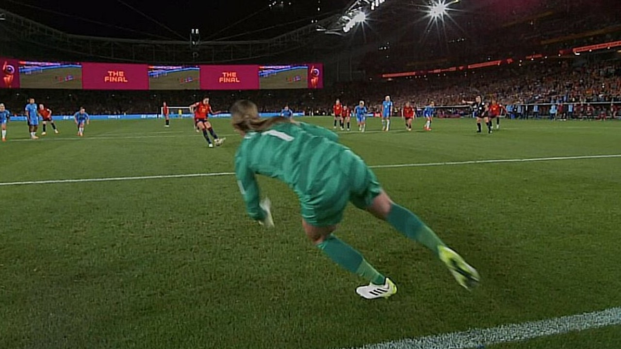
<svg viewBox="0 0 621 349"><path fill-rule="evenodd" d="M148 65L82 63L84 89L149 89Z"/></svg>

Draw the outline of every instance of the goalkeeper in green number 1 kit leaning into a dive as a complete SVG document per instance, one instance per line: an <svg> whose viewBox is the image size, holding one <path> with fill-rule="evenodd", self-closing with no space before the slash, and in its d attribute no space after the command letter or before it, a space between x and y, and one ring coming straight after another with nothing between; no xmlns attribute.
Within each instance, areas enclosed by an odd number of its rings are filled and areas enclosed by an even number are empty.
<svg viewBox="0 0 621 349"><path fill-rule="evenodd" d="M299 197L302 227L309 240L332 261L369 282L356 289L358 295L387 298L396 294L397 287L360 252L333 235L348 202L427 247L464 288L479 283L479 273L417 215L393 202L373 171L338 143L334 132L283 117L260 119L250 101L235 102L231 114L233 127L243 137L235 153L235 176L250 218L265 227L274 226L270 201L260 201L255 174L288 184Z"/></svg>

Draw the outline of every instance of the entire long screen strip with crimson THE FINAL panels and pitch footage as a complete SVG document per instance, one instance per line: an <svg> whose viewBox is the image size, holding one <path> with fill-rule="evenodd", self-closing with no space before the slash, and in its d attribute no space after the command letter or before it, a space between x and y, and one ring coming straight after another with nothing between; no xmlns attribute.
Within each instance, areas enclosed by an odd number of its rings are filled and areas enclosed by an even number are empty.
<svg viewBox="0 0 621 349"><path fill-rule="evenodd" d="M0 58L0 64L0 88L249 90L324 87L324 66L321 63L177 66Z"/></svg>

